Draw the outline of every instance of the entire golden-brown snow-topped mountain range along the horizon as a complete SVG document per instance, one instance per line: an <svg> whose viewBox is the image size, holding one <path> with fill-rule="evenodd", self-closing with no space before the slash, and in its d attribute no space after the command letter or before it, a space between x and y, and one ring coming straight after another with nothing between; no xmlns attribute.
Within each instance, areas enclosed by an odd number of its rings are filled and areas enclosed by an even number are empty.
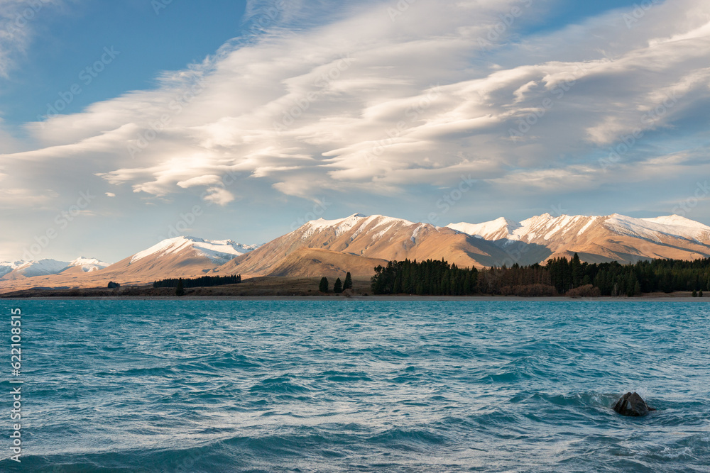
<svg viewBox="0 0 710 473"><path fill-rule="evenodd" d="M622 263L652 258L710 256L710 227L682 216L631 218L551 216L516 222L498 218L445 227L356 213L305 223L264 245L180 236L163 240L113 265L80 257L0 262L0 292L33 287L148 284L166 277L242 274L243 277L370 277L390 260L444 258L459 267L531 265L552 257Z"/></svg>

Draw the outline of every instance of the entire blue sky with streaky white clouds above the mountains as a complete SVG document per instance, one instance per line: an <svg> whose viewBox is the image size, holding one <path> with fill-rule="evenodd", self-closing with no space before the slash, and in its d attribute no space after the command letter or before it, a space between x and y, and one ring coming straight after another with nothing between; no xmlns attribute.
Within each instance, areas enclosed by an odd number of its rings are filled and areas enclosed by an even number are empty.
<svg viewBox="0 0 710 473"><path fill-rule="evenodd" d="M0 260L315 218L710 224L702 0L0 0Z"/></svg>

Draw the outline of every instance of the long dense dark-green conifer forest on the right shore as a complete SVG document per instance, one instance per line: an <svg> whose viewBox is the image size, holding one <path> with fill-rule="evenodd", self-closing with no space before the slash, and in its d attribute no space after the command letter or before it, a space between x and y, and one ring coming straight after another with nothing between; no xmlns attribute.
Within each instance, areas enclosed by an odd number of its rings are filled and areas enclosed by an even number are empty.
<svg viewBox="0 0 710 473"><path fill-rule="evenodd" d="M635 264L557 257L545 265L459 268L442 260L391 261L374 268L373 294L466 296L635 296L642 292L710 290L710 258L643 260Z"/></svg>

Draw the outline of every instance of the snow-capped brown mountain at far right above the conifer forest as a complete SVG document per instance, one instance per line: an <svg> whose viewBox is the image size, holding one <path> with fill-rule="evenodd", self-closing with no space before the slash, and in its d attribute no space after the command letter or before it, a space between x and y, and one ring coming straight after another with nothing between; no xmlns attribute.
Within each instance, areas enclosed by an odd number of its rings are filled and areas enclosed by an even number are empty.
<svg viewBox="0 0 710 473"><path fill-rule="evenodd" d="M545 246L552 256L579 252L582 260L589 262L633 262L657 257L689 260L710 255L710 227L677 215L553 217L543 213L520 222L498 218L484 223L452 223L448 227L503 247L522 242Z"/></svg>

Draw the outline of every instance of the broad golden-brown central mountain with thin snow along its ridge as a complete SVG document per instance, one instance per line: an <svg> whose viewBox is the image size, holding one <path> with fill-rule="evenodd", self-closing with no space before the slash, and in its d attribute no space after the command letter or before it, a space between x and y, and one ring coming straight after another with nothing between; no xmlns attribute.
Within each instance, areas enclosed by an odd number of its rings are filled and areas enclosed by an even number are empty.
<svg viewBox="0 0 710 473"><path fill-rule="evenodd" d="M305 223L217 272L271 276L369 277L388 260L446 259L460 267L502 265L505 250L451 228L356 213Z"/></svg>

